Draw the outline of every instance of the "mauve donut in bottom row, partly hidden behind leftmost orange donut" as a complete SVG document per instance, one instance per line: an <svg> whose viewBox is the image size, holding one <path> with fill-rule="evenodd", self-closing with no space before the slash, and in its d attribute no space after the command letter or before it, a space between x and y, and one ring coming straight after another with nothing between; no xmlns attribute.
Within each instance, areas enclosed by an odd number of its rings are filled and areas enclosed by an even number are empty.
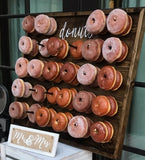
<svg viewBox="0 0 145 160"><path fill-rule="evenodd" d="M39 108L41 108L41 106L38 103L34 103L29 107L27 115L28 115L28 119L31 123L36 123L36 111Z"/></svg>

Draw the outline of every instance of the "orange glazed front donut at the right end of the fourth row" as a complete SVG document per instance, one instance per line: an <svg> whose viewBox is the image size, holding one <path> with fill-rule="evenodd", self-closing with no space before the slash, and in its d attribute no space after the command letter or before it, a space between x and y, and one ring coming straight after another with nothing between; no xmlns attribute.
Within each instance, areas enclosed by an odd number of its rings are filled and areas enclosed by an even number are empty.
<svg viewBox="0 0 145 160"><path fill-rule="evenodd" d="M92 112L97 116L105 116L109 113L111 107L106 96L96 96L92 101Z"/></svg>

